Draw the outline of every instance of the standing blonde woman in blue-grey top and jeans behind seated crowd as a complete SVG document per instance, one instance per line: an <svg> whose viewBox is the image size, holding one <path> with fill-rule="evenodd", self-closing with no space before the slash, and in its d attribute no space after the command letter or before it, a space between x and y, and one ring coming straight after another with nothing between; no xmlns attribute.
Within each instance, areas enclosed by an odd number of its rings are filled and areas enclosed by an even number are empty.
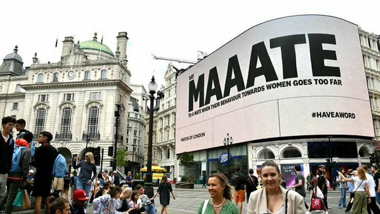
<svg viewBox="0 0 380 214"><path fill-rule="evenodd" d="M89 195L92 183L97 175L94 155L91 152L86 153L85 160L74 165L74 169L78 168L81 168L81 171L78 176L77 190L84 190L86 195Z"/></svg>

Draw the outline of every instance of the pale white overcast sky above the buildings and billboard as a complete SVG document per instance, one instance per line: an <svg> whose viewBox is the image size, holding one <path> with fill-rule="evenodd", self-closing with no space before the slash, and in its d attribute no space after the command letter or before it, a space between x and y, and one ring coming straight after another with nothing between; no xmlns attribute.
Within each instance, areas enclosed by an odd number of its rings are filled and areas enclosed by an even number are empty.
<svg viewBox="0 0 380 214"><path fill-rule="evenodd" d="M275 18L299 14L336 16L380 34L379 1L3 1L0 13L0 57L18 53L24 66L34 52L41 63L59 61L64 37L98 41L116 51L118 32L128 32L131 83L147 89L151 75L159 85L169 61L197 60L197 51L212 53L248 28ZM58 38L58 47L55 41ZM177 68L189 64L173 63Z"/></svg>

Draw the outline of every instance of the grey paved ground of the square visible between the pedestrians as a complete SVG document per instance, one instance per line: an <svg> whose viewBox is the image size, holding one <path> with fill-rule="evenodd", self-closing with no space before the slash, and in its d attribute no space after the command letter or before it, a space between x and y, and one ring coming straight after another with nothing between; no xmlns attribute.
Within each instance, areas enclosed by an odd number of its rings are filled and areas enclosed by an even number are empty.
<svg viewBox="0 0 380 214"><path fill-rule="evenodd" d="M170 198L170 204L168 206L170 214L182 214L182 213L197 213L200 204L210 198L210 195L208 194L207 188L201 188L202 185L195 185L194 190L183 190L183 189L175 189L173 185L173 194L176 197L175 200L173 198ZM157 188L155 188L155 192L157 191ZM329 213L330 214L340 214L345 213L344 209L338 209L337 204L340 198L340 192L338 191L329 191L327 195L327 201L328 205L330 207ZM347 203L350 199L350 196L347 195ZM157 213L160 214L161 212L161 205L160 205L160 199L156 199L156 207L157 207ZM307 192L307 198L306 202L308 205L310 205L310 192ZM243 204L243 213L246 213L247 209L247 203ZM92 213L93 207L89 206L87 208L87 213ZM33 213L32 210L24 210L24 211L16 211L13 213L18 214L25 214L25 213ZM320 213L320 212L313 212L313 213ZM349 212L352 213L352 210Z"/></svg>

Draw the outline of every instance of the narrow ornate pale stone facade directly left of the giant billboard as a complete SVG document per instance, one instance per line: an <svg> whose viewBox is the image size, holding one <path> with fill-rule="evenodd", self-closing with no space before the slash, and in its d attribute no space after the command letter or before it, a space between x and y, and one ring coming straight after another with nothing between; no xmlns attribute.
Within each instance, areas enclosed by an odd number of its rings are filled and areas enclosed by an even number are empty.
<svg viewBox="0 0 380 214"><path fill-rule="evenodd" d="M165 168L166 173L173 179L178 175L178 161L175 154L175 105L176 105L176 70L169 63L165 72L165 85L159 90L164 93L164 99L156 103L158 110L153 119L153 150L152 163ZM148 116L148 115L147 115ZM149 125L149 117L145 119L146 127ZM146 139L148 132L146 132ZM147 142L145 143L144 165L146 165Z"/></svg>

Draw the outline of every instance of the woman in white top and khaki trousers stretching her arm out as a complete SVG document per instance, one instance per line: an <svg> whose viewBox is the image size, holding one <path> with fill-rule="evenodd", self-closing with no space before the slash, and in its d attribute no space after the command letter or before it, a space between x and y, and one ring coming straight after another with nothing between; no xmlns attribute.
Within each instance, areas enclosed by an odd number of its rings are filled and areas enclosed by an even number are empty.
<svg viewBox="0 0 380 214"><path fill-rule="evenodd" d="M345 182L354 182L354 214L359 213L368 213L367 212L367 202L371 202L371 198L369 197L369 187L367 177L365 176L365 171L362 167L358 167L357 169L358 176L351 177L347 179L345 175L338 171L339 175Z"/></svg>

